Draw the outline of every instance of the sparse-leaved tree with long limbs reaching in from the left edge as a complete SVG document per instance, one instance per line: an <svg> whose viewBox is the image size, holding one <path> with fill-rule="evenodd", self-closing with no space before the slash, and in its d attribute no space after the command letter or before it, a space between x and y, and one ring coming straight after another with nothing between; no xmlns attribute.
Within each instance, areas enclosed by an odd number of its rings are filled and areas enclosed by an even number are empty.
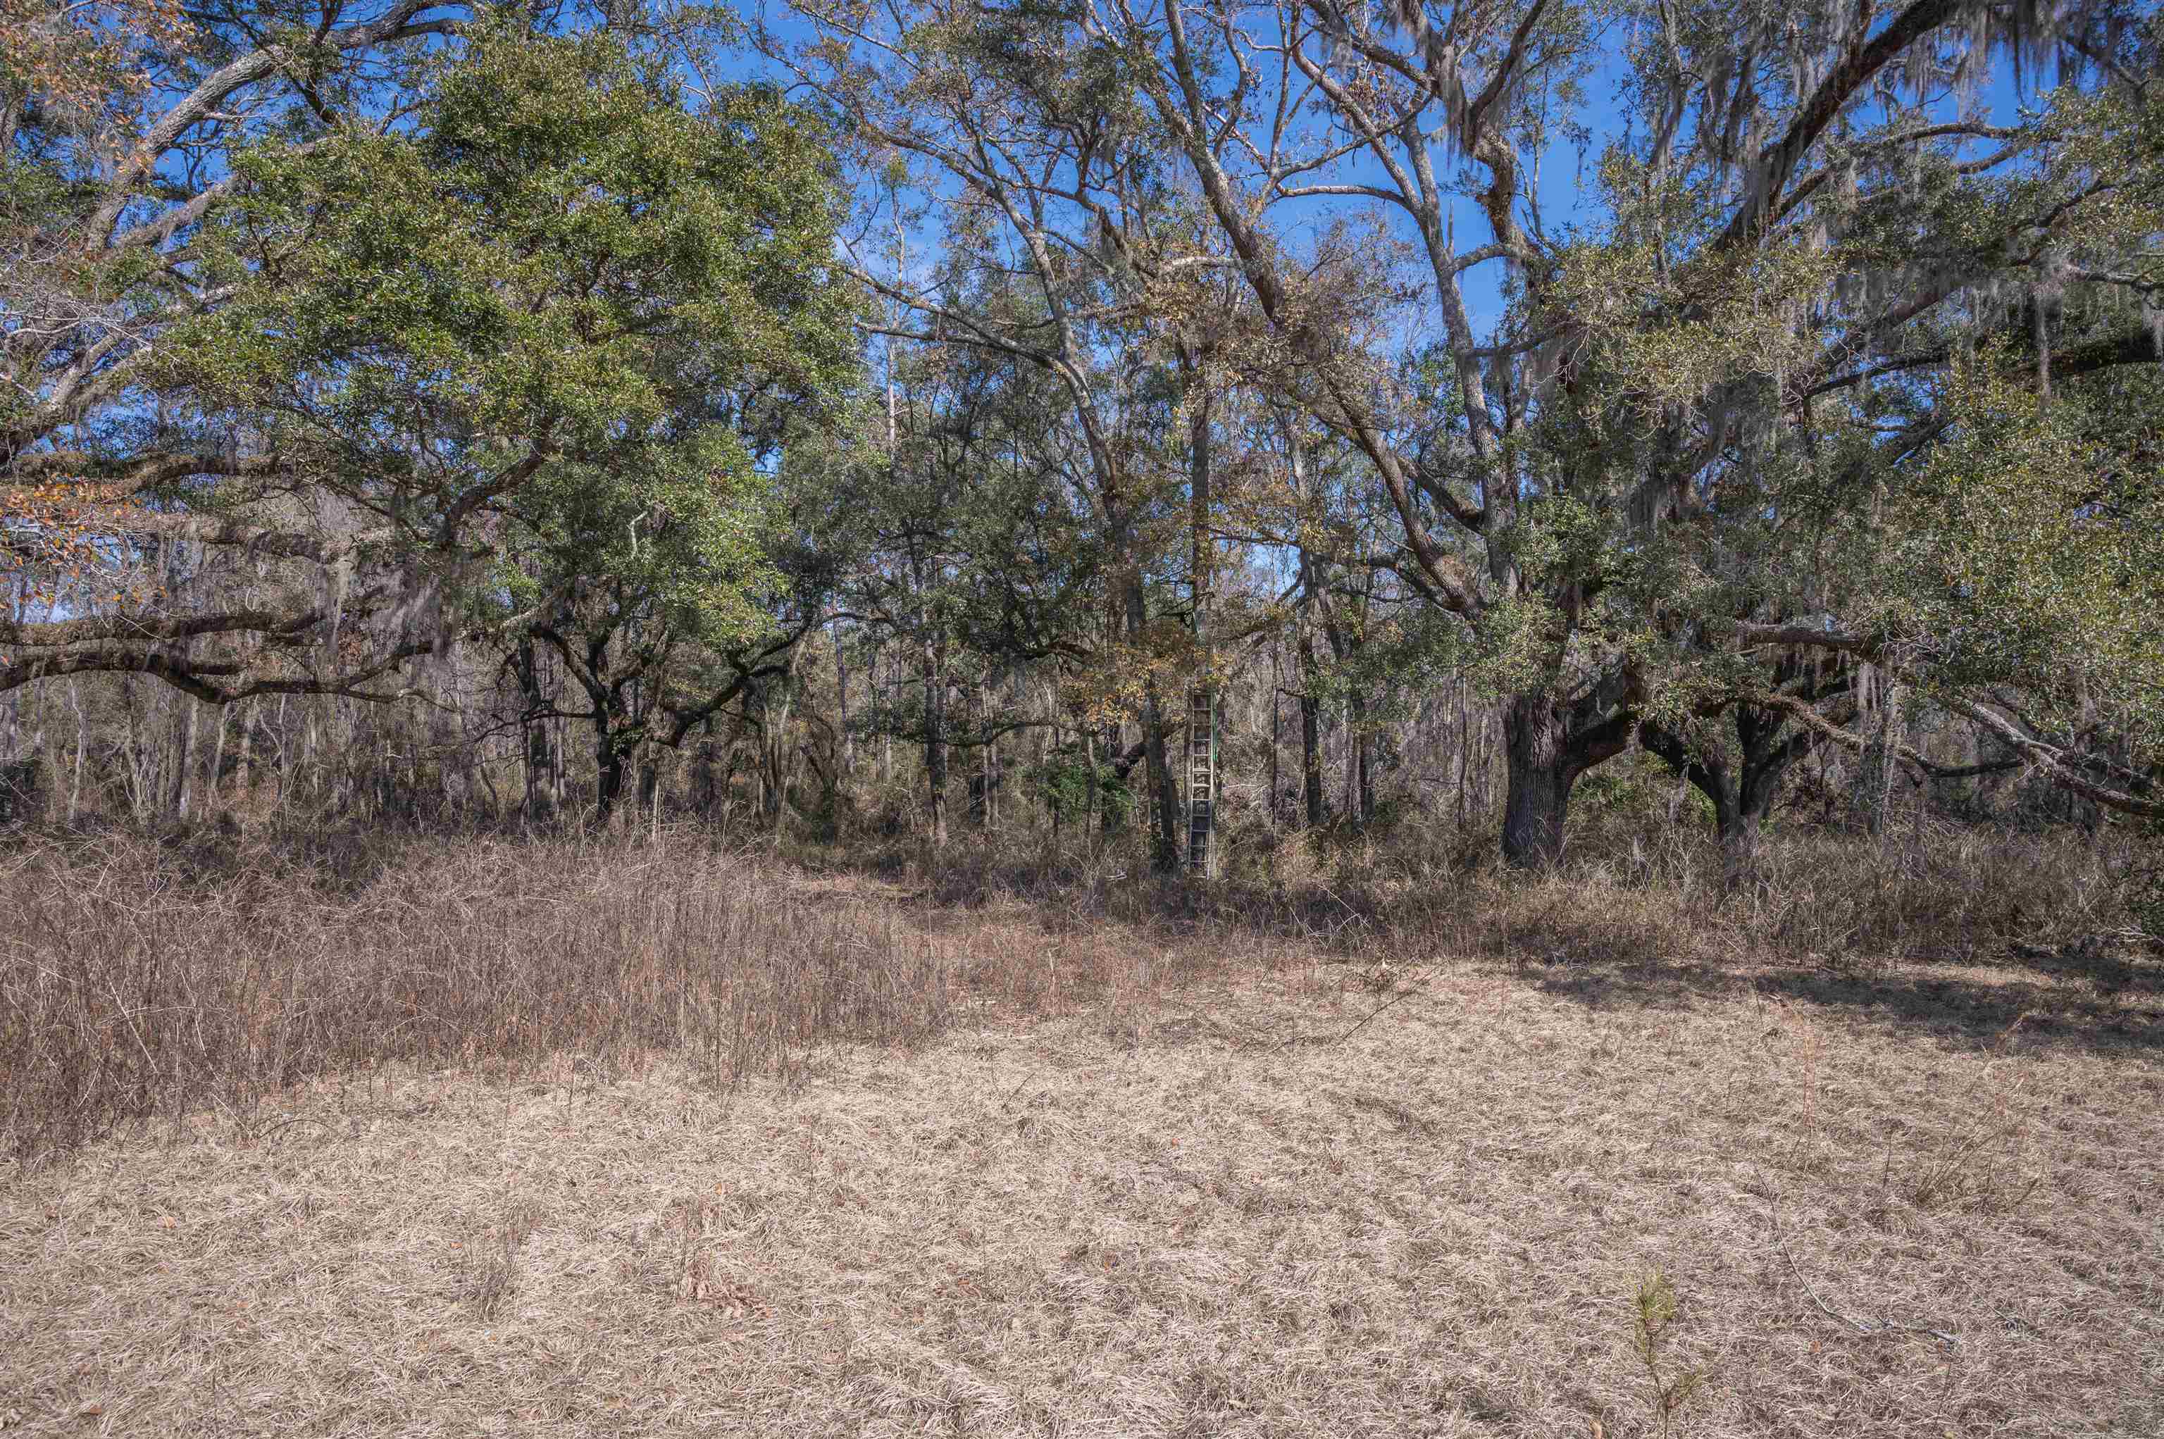
<svg viewBox="0 0 2164 1439"><path fill-rule="evenodd" d="M0 526L17 563L65 586L43 595L61 612L45 604L45 621L0 634L0 690L134 671L221 699L245 688L242 654L320 649L322 606L236 593L190 608L130 582L145 547L175 541L266 565L338 558L338 541L296 524L292 506L242 519L188 504L225 480L273 483L279 467L229 431L190 424L154 370L180 357L175 327L236 296L197 249L212 210L245 186L227 158L273 136L305 147L379 113L463 13L411 0L316 13L26 0L0 15ZM195 654L206 636L223 654ZM322 654L266 682L351 688L381 673L383 656Z"/></svg>

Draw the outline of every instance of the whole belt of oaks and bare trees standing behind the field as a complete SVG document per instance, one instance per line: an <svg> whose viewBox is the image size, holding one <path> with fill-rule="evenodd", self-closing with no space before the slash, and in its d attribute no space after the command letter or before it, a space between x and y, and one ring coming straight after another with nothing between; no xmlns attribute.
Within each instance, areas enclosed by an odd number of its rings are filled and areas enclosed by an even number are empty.
<svg viewBox="0 0 2164 1439"><path fill-rule="evenodd" d="M2127 0L11 2L0 807L1140 883L1214 714L1229 879L1958 822L2138 902L2160 58Z"/></svg>

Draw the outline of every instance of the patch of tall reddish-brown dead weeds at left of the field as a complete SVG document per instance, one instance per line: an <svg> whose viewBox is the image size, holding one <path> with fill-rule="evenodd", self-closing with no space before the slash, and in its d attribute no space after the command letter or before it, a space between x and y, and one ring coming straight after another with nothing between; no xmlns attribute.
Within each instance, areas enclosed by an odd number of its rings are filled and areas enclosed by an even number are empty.
<svg viewBox="0 0 2164 1439"><path fill-rule="evenodd" d="M383 1060L697 1056L790 1073L814 1041L918 1041L948 963L892 905L794 902L773 863L677 837L219 840L0 857L0 1149Z"/></svg>

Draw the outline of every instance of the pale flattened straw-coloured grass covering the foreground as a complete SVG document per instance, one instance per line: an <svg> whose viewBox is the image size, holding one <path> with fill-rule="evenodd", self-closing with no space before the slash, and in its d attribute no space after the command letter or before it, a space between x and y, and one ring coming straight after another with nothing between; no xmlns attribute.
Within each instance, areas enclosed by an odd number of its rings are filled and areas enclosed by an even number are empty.
<svg viewBox="0 0 2164 1439"><path fill-rule="evenodd" d="M1705 1374L1675 1433L2164 1422L2155 1065L1409 982L1342 1041L1387 1000L1322 967L796 1091L396 1065L100 1145L0 1199L0 1413L1621 1437L1660 1275L1660 1383Z"/></svg>

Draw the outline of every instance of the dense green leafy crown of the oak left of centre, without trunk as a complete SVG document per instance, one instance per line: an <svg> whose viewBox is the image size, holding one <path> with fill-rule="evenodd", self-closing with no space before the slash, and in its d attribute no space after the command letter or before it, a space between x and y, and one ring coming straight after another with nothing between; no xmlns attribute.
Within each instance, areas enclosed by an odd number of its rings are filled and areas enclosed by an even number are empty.
<svg viewBox="0 0 2164 1439"><path fill-rule="evenodd" d="M853 359L809 115L757 87L695 115L658 56L498 17L390 123L234 167L201 249L236 296L173 381L374 547L489 573L476 604L608 580L755 628L757 450Z"/></svg>

